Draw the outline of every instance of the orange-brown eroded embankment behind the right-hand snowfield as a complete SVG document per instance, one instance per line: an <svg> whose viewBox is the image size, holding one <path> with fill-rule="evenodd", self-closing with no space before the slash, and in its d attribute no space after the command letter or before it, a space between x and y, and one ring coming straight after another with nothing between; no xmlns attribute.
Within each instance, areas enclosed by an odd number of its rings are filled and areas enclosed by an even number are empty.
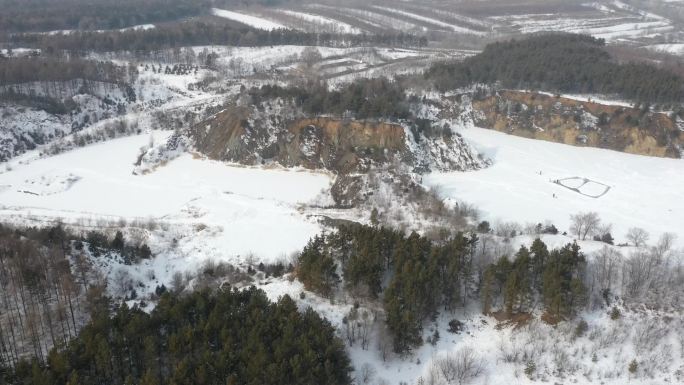
<svg viewBox="0 0 684 385"><path fill-rule="evenodd" d="M679 117L647 109L499 91L473 101L473 112L477 126L571 145L672 158L684 145Z"/></svg>

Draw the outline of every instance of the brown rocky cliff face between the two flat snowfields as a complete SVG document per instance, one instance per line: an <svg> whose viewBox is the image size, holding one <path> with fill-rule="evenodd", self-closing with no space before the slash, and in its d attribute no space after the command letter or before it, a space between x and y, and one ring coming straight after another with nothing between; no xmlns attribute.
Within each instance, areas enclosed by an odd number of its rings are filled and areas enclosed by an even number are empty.
<svg viewBox="0 0 684 385"><path fill-rule="evenodd" d="M428 137L402 124L306 117L282 104L262 107L229 107L188 136L199 152L213 159L276 162L340 174L395 161L418 172L487 165L458 135Z"/></svg>

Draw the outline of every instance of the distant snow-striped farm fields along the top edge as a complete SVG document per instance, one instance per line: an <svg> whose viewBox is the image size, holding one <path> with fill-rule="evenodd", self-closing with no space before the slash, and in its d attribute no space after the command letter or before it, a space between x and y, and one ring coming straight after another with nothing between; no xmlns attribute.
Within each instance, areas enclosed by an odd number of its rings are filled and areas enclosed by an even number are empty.
<svg viewBox="0 0 684 385"><path fill-rule="evenodd" d="M464 9L448 3L399 2L390 5L370 1L345 3L341 7L323 2L295 9L215 9L214 14L265 30L285 27L346 33L440 31L478 36L563 31L590 34L609 43L646 45L660 43L680 30L672 13L681 12L681 7L674 2L658 6L601 0L577 4L577 7L561 12L549 12L550 9L545 7L539 12L530 12L529 7L520 7L517 11L511 7L503 15L496 12L500 5L497 2L483 0L479 3L482 4L481 9L474 4ZM468 8L472 9L469 11Z"/></svg>

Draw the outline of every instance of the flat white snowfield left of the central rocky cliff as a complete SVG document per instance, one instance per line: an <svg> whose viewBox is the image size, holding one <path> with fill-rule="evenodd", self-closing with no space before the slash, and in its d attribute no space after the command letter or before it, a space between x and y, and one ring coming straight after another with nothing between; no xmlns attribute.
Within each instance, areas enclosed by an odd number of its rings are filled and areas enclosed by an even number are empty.
<svg viewBox="0 0 684 385"><path fill-rule="evenodd" d="M325 174L184 154L134 175L140 148L168 134L115 139L27 164L13 161L11 171L0 174L0 218L29 224L61 219L77 228L93 221L155 222L170 231L149 234L153 251L167 251L160 248L169 240L157 237L175 237L178 250L169 254L191 256L183 266L205 258L237 263L252 253L256 260L279 260L320 231L298 206L328 189Z"/></svg>

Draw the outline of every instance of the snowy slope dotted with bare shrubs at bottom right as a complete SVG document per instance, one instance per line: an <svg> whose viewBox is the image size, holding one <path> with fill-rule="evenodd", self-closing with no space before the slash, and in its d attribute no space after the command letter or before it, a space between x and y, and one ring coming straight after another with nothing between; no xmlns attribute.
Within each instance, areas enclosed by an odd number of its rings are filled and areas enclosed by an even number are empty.
<svg viewBox="0 0 684 385"><path fill-rule="evenodd" d="M271 300L287 294L300 308L313 308L343 336L343 317L354 307L353 298L330 301L306 292L299 281L285 278L262 280L258 286ZM302 292L305 292L304 298L300 297ZM362 302L359 311L373 314L374 306L378 304ZM378 349L378 324L372 328L368 349L363 349L357 341L348 346L348 351L359 384L449 384L439 379L436 382L429 380L432 362L466 347L473 349L482 372L464 384L656 385L678 383L682 379L679 357L684 354L684 342L677 332L684 326L681 317L623 310L620 319L612 320L608 313L607 309L587 311L578 315L575 322L552 326L541 322L537 312L536 319L518 328L515 324L502 324L493 317L482 315L479 304L474 301L465 310L443 312L434 322L426 322L424 340L431 337L434 330L439 332L439 340L434 345L426 342L407 357L390 353L386 359L382 358ZM463 332L448 331L452 319L463 322ZM584 335L577 336L576 325L581 319L587 322L588 329ZM627 370L633 359L639 362L638 378ZM524 370L530 361L535 369L528 375ZM365 377L370 378L367 382L362 381L368 372L372 374Z"/></svg>

